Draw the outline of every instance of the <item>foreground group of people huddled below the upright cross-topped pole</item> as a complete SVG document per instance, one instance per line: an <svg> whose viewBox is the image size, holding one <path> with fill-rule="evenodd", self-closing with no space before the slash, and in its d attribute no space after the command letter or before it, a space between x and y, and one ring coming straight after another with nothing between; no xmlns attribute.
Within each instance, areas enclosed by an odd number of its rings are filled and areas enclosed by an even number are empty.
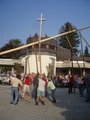
<svg viewBox="0 0 90 120"><path fill-rule="evenodd" d="M35 105L39 102L45 104L44 98L48 97L48 89L51 90L52 102L56 103L55 99L55 85L51 78L47 78L45 74L39 73L28 74L24 76L13 74L11 77L11 104L17 104L19 101L19 92L21 97L29 96L34 98Z"/></svg>

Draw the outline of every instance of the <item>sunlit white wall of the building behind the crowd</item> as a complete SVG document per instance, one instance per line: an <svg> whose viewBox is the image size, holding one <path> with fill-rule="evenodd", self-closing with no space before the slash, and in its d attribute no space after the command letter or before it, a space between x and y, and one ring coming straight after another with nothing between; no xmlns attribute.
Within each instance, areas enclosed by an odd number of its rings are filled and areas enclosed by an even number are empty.
<svg viewBox="0 0 90 120"><path fill-rule="evenodd" d="M27 59L27 74L31 72L37 73L37 66L36 66L36 57L35 55L29 55L28 57L24 57L21 59L22 64L24 65L24 68L26 67L25 65L25 59ZM41 66L42 66L42 73L45 73L47 75L47 67L49 66L49 63L52 63L52 59L55 60L55 67L54 67L54 75L56 72L56 57L52 55L41 55ZM38 70L40 72L40 63L37 55L37 61L38 61ZM24 69L25 72L26 69Z"/></svg>

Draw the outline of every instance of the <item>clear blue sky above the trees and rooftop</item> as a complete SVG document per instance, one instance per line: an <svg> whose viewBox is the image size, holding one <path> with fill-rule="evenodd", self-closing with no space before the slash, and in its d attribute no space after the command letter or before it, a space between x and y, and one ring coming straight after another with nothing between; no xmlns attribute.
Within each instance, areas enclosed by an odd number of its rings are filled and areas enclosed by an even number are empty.
<svg viewBox="0 0 90 120"><path fill-rule="evenodd" d="M90 26L90 0L0 0L0 47L11 39L26 44L28 37L39 34L41 13L42 36L57 35L66 22L78 29ZM90 29L81 33L90 43Z"/></svg>

